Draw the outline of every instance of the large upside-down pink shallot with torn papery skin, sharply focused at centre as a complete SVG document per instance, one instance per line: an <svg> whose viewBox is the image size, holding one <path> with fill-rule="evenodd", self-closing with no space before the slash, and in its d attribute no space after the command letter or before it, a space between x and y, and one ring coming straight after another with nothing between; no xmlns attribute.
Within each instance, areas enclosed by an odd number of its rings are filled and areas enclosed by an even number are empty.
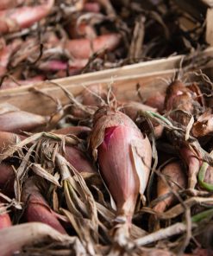
<svg viewBox="0 0 213 256"><path fill-rule="evenodd" d="M128 116L106 106L94 116L90 146L116 202L116 214L131 221L137 196L147 186L152 160L149 140Z"/></svg>

